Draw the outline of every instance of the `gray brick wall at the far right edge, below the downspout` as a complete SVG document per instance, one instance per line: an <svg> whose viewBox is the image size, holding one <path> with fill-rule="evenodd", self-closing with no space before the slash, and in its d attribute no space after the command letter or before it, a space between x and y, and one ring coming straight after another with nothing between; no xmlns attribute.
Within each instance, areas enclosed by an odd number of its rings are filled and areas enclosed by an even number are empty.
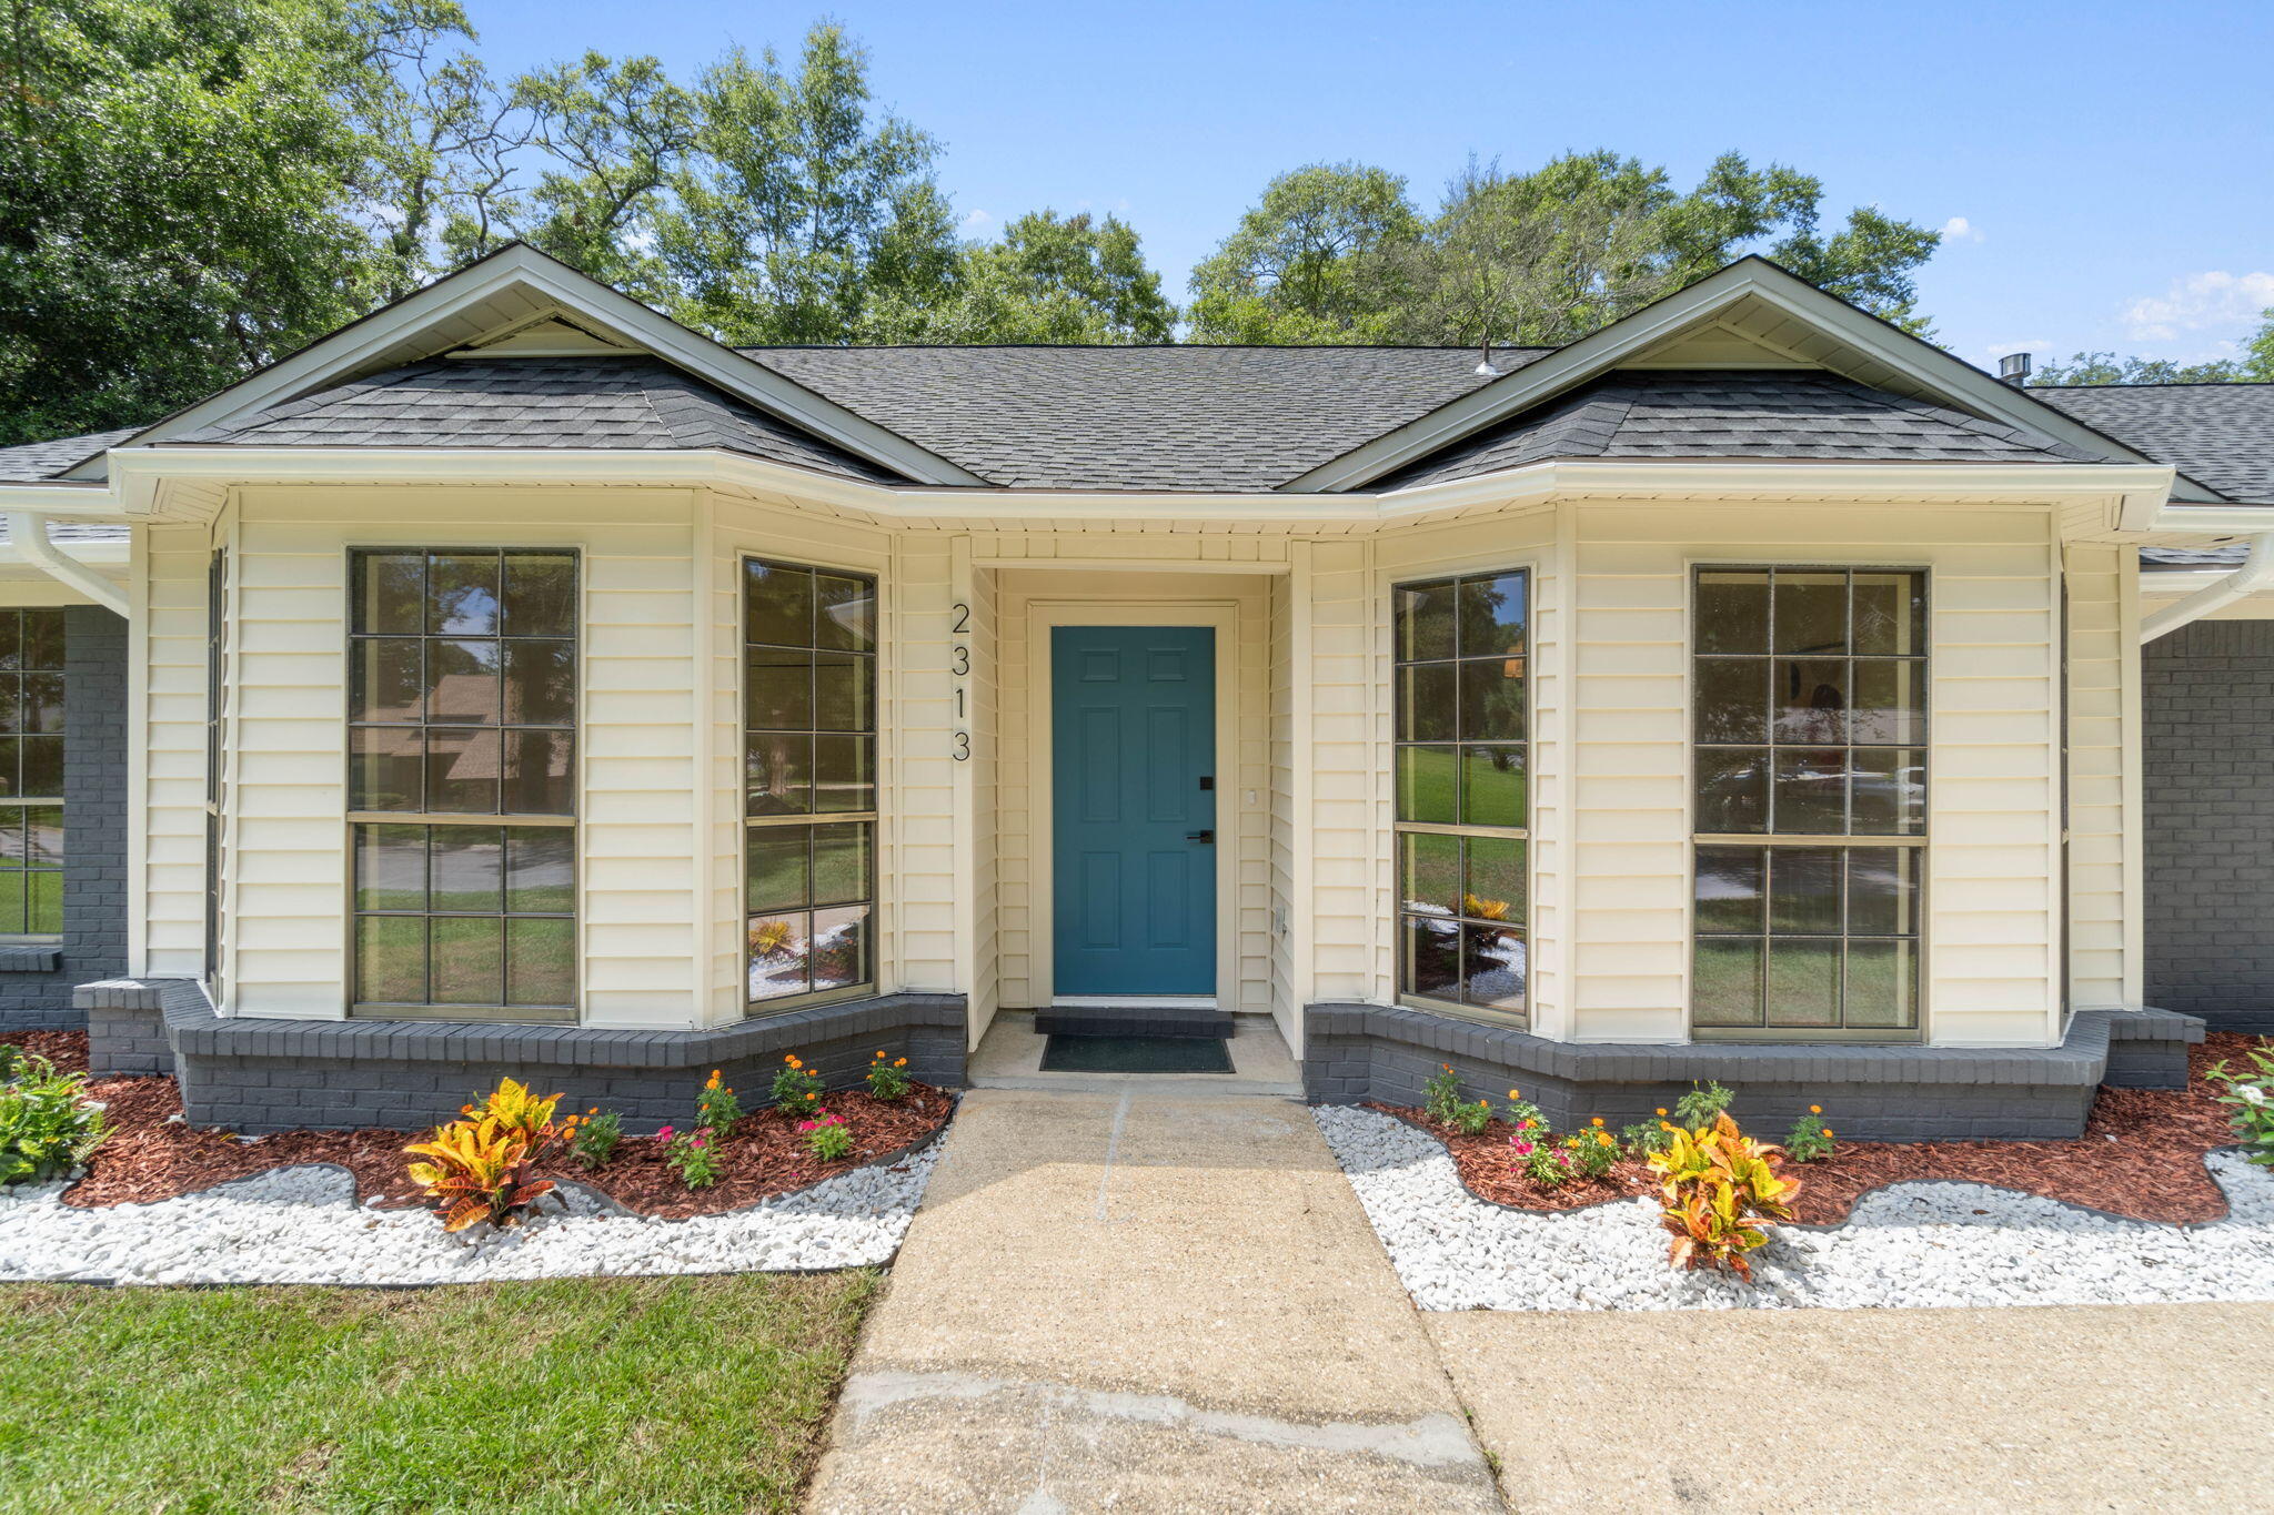
<svg viewBox="0 0 2274 1515"><path fill-rule="evenodd" d="M2147 999L2274 1033L2274 620L2142 647Z"/></svg>

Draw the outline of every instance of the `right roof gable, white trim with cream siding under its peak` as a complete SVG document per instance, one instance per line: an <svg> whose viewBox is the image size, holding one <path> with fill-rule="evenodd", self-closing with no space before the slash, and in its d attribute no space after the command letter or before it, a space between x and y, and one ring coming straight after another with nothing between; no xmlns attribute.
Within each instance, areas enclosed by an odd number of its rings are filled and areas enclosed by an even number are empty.
<svg viewBox="0 0 2274 1515"><path fill-rule="evenodd" d="M1699 279L1633 316L1542 357L1428 416L1410 420L1342 457L1280 484L1287 493L1380 488L1383 479L1467 443L1478 432L1533 411L1624 366L1685 361L1685 345L1737 341L1821 368L1897 397L1928 400L1953 413L1994 422L2044 445L2074 450L2074 461L2149 463L2147 454L2078 422L2028 391L2017 391L1846 304L1776 263L1749 257ZM1760 363L1749 363L1760 366ZM2217 500L2217 491L2181 477L2181 500Z"/></svg>

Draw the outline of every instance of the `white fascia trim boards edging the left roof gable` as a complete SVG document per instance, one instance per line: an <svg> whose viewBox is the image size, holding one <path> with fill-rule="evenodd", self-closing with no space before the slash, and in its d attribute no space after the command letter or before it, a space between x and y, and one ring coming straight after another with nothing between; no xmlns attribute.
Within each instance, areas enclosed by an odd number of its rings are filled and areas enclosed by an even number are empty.
<svg viewBox="0 0 2274 1515"><path fill-rule="evenodd" d="M439 279L414 295L405 295L384 311L343 327L334 336L296 352L273 368L264 368L250 379L232 384L186 411L168 416L148 432L127 438L123 447L164 443L166 438L182 436L184 432L221 425L239 416L250 416L273 404L282 404L296 395L318 388L327 375L355 370L375 352L391 348L418 327L443 320L453 311L487 300L516 284L525 286L539 300L550 300L553 304L571 309L594 325L600 325L612 336L634 348L644 348L666 363L716 384L730 395L739 395L796 427L825 436L871 463L905 472L907 477L923 479L926 484L985 484L978 475L957 468L948 459L919 447L896 432L887 432L864 416L855 416L803 384L773 373L764 363L746 359L732 348L714 343L698 332L689 332L675 320L639 304L630 295L619 295L566 263L559 263L534 248L521 245L507 248L491 259ZM111 452L111 457L116 454L118 450ZM102 475L102 468L105 459L96 457L73 468L68 477L96 479Z"/></svg>

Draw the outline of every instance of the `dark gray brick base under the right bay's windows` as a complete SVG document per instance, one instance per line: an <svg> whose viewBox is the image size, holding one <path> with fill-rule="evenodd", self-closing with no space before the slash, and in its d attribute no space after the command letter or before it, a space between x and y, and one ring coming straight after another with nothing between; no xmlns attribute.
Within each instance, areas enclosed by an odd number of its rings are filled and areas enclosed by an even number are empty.
<svg viewBox="0 0 2274 1515"><path fill-rule="evenodd" d="M2122 1024L2119 1024L2122 1022ZM2047 1140L2085 1129L2103 1081L2172 1088L2185 1081L2188 1043L2204 1024L2167 1011L2085 1011L2060 1047L1835 1047L1692 1043L1612 1047L1551 1043L1376 1004L1314 1004L1303 1013L1303 1088L1321 1104L1421 1104L1421 1086L1451 1063L1469 1099L1524 1097L1555 1129L1601 1115L1610 1127L1651 1120L1692 1081L1737 1093L1733 1113L1778 1133L1821 1104L1842 1136L1874 1142Z"/></svg>

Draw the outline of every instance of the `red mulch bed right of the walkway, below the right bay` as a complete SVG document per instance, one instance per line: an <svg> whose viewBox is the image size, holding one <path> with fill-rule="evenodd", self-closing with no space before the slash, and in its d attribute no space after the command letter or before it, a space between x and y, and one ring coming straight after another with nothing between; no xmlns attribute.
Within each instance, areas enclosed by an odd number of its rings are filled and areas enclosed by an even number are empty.
<svg viewBox="0 0 2274 1515"><path fill-rule="evenodd" d="M2204 1154L2235 1145L2226 1106L2213 1102L2204 1072L2219 1058L2247 1065L2242 1052L2260 1038L2213 1031L2188 1049L2188 1088L2101 1088L2085 1133L2072 1142L1840 1142L1815 1163L1785 1163L1801 1181L1794 1220L1831 1224L1846 1220L1856 1202L1874 1188L1912 1179L1965 1179L1994 1183L2047 1199L2067 1199L2133 1220L2204 1222L2226 1215L2226 1195L2210 1181ZM2274 1045L2274 1043L2267 1043ZM1740 1097L1742 1099L1742 1097ZM1510 1127L1494 1122L1480 1136L1437 1127L1410 1106L1367 1106L1428 1131L1453 1154L1460 1181L1478 1199L1519 1211L1576 1211L1628 1195L1655 1195L1651 1170L1621 1161L1592 1183L1539 1188L1508 1149ZM1740 1108L1742 1113L1742 1108ZM1824 1120L1837 1129L1840 1111ZM1783 1131L1753 1131L1776 1140Z"/></svg>

